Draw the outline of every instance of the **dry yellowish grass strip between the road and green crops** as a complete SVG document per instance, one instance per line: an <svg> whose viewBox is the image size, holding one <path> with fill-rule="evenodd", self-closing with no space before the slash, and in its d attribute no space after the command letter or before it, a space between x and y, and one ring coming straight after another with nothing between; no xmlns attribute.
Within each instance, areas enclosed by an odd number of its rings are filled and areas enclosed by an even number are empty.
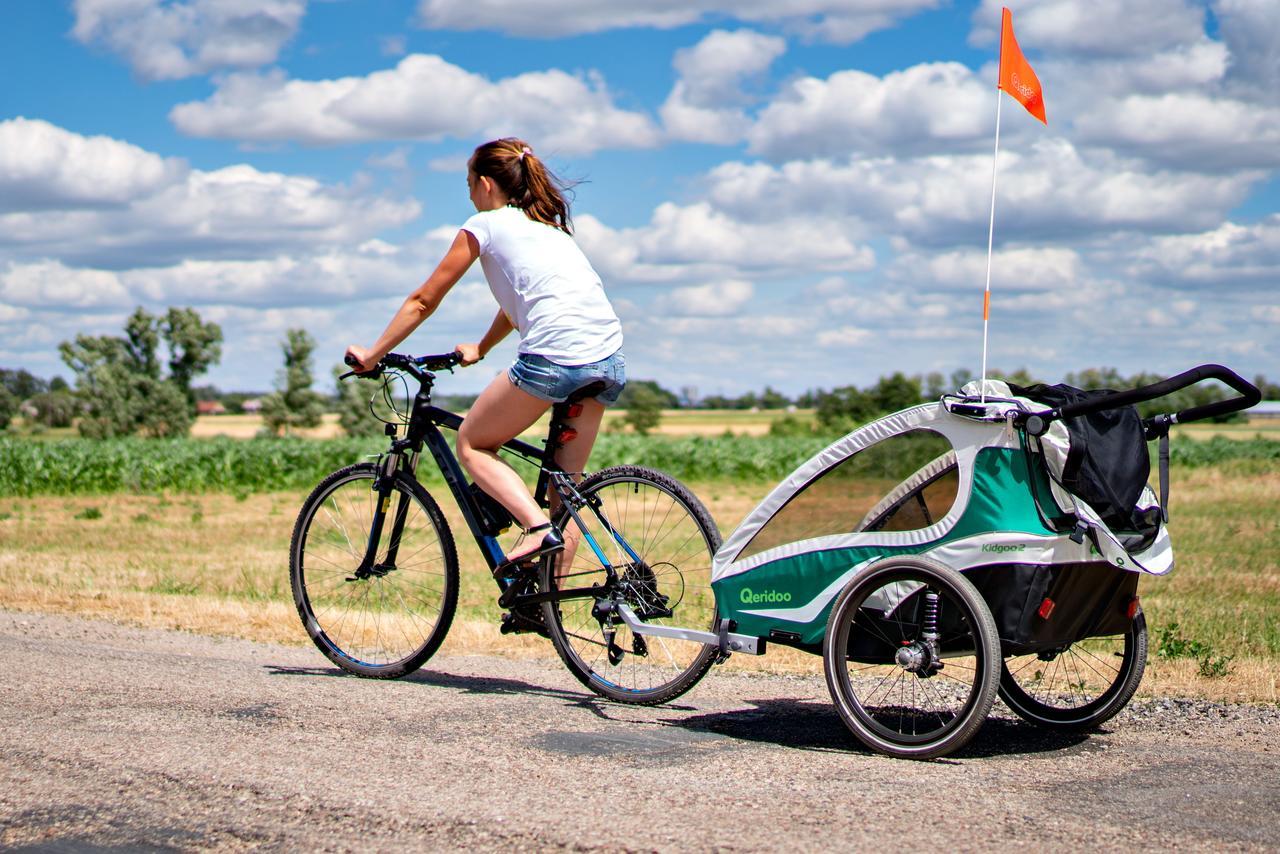
<svg viewBox="0 0 1280 854"><path fill-rule="evenodd" d="M1171 576L1144 580L1140 588L1152 627L1142 690L1276 702L1280 478L1234 478L1215 469L1174 474L1179 565ZM696 484L695 492L728 533L768 487ZM118 494L0 501L0 607L307 644L288 584L288 544L302 498ZM462 588L443 652L554 657L540 639L498 634L493 583L457 510L444 504L458 536ZM1175 621L1188 639L1233 656L1230 673L1206 679L1192 659L1160 658L1157 629ZM763 658L737 656L728 666L819 673L822 661L774 647Z"/></svg>

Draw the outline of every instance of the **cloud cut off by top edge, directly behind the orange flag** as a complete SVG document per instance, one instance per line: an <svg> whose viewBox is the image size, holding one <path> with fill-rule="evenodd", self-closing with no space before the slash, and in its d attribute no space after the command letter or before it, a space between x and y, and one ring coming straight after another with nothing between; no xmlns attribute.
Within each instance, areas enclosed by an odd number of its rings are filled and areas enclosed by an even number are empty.
<svg viewBox="0 0 1280 854"><path fill-rule="evenodd" d="M982 1L970 44L997 44L1004 5ZM1204 9L1190 0L1024 0L1014 9L1014 32L1033 65L1038 51L1130 56L1197 41Z"/></svg>

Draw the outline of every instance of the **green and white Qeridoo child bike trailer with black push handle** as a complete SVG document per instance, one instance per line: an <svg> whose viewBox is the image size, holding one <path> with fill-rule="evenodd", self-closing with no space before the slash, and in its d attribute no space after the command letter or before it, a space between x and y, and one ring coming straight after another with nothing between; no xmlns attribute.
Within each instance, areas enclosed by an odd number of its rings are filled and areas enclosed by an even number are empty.
<svg viewBox="0 0 1280 854"><path fill-rule="evenodd" d="M1208 378L1242 397L1146 421L1133 408ZM721 617L822 654L841 718L882 753L956 750L997 693L1039 726L1094 727L1142 679L1138 581L1174 565L1147 440L1167 448L1171 424L1257 399L1207 365L1123 393L970 384L884 416L796 469L724 540Z"/></svg>

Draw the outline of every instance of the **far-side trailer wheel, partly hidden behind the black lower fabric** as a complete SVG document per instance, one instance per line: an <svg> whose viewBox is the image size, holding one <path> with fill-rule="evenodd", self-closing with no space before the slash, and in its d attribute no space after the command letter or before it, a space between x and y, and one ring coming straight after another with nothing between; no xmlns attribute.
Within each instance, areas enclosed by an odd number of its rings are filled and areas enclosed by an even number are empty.
<svg viewBox="0 0 1280 854"><path fill-rule="evenodd" d="M1114 649L1119 644L1124 645L1123 652ZM1096 649L1088 649L1089 645ZM1120 658L1114 671L1106 647ZM1139 611L1124 635L1074 643L1030 675L1025 675L1030 662L1010 667L1010 659L1001 662L1000 672L1000 699L1005 705L1036 726L1088 732L1111 720L1138 690L1147 670L1147 618ZM1092 695L1094 688L1097 694Z"/></svg>

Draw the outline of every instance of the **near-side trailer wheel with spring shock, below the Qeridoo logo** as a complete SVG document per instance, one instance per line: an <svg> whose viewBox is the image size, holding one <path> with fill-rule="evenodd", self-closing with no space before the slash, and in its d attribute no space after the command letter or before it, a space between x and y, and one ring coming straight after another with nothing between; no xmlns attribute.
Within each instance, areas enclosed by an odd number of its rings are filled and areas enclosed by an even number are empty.
<svg viewBox="0 0 1280 854"><path fill-rule="evenodd" d="M940 624L942 667L924 668L923 676L908 665L924 636L919 588L938 594L938 612L950 620L945 629ZM858 665L856 677L850 663ZM929 558L890 557L855 576L836 599L823 665L836 711L863 744L892 757L932 759L968 744L987 720L1000 676L1000 636L987 603L963 575Z"/></svg>

